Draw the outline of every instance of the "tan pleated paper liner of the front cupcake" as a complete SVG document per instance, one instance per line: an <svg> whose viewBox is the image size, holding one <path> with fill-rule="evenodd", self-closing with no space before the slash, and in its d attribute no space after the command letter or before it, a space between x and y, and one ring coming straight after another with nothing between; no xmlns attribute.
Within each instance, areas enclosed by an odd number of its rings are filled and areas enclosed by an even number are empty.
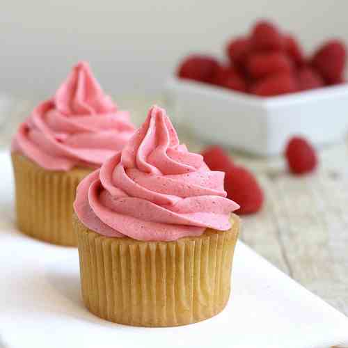
<svg viewBox="0 0 348 348"><path fill-rule="evenodd" d="M239 218L175 242L110 238L73 217L84 303L98 317L133 326L178 326L223 310L230 296Z"/></svg>

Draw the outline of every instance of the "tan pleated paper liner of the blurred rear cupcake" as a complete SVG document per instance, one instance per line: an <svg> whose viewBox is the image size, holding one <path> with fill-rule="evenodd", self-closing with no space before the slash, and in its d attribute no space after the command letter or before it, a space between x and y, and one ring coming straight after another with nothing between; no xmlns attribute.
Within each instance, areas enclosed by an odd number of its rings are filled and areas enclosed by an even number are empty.
<svg viewBox="0 0 348 348"><path fill-rule="evenodd" d="M18 153L12 154L12 161L19 230L52 244L76 246L72 203L77 185L90 169L46 171Z"/></svg>

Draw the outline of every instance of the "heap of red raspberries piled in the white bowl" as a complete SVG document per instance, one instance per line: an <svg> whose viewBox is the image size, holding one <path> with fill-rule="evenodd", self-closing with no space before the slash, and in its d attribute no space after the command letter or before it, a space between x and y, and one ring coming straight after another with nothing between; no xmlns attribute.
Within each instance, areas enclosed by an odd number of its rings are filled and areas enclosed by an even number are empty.
<svg viewBox="0 0 348 348"><path fill-rule="evenodd" d="M294 93L345 82L345 44L329 40L305 56L294 35L267 21L257 22L249 35L232 38L226 46L228 63L192 54L177 76L262 97Z"/></svg>

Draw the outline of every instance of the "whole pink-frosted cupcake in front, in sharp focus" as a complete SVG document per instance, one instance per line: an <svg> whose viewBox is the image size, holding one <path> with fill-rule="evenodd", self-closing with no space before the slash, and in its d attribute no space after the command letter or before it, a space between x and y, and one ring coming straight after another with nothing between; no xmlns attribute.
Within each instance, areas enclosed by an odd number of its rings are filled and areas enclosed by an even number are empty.
<svg viewBox="0 0 348 348"><path fill-rule="evenodd" d="M239 219L224 173L179 139L153 106L125 148L79 184L73 225L84 303L134 326L191 324L230 296Z"/></svg>

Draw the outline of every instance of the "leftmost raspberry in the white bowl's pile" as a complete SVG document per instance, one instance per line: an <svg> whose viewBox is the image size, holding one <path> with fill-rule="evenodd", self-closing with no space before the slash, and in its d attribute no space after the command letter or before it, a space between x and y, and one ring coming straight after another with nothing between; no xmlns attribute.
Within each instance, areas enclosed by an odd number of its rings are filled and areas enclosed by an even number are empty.
<svg viewBox="0 0 348 348"><path fill-rule="evenodd" d="M210 56L191 55L182 61L177 76L201 82L211 82L219 63Z"/></svg>

